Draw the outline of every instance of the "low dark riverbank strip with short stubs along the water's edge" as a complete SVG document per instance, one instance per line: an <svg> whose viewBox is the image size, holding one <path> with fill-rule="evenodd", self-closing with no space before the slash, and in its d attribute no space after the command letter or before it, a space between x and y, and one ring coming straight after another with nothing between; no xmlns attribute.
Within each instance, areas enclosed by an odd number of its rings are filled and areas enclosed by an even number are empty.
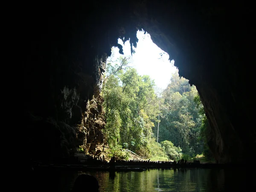
<svg viewBox="0 0 256 192"><path fill-rule="evenodd" d="M33 170L72 170L72 171L107 171L107 172L129 172L129 171L145 171L148 169L224 169L244 167L244 164L219 164L219 163L200 163L186 162L180 160L178 162L171 161L139 161L139 160L116 160L114 168L110 163L97 160L96 158L87 163L34 163Z"/></svg>

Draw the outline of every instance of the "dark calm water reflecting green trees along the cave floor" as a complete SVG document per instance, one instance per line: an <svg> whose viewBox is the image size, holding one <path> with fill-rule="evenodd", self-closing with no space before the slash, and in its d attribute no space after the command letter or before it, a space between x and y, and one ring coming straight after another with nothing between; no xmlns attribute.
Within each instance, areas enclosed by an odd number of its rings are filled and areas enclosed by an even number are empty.
<svg viewBox="0 0 256 192"><path fill-rule="evenodd" d="M151 169L143 172L40 172L35 191L70 192L82 173L95 176L101 192L252 191L255 181L246 169ZM251 181L251 182L250 182ZM84 186L86 188L86 186Z"/></svg>

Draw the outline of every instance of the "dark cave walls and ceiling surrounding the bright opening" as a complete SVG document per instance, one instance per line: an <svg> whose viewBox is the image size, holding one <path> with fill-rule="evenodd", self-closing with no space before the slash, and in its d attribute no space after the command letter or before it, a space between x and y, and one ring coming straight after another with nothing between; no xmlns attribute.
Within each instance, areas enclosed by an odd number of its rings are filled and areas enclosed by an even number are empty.
<svg viewBox="0 0 256 192"><path fill-rule="evenodd" d="M136 47L142 29L197 87L216 161L241 163L256 150L252 6L201 0L46 3L24 6L22 16L28 162L65 157L84 143L93 150L93 142L102 142L104 119L87 121L88 111L100 113L95 98L102 69L112 46L122 53L117 39L130 39ZM88 141L88 133L99 137Z"/></svg>

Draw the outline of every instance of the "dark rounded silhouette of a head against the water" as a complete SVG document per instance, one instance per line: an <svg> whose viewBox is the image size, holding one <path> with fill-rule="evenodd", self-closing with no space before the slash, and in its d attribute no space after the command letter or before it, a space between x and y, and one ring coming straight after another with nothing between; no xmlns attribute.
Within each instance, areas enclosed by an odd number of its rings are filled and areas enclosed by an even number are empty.
<svg viewBox="0 0 256 192"><path fill-rule="evenodd" d="M98 180L92 175L79 175L76 178L72 192L99 192Z"/></svg>

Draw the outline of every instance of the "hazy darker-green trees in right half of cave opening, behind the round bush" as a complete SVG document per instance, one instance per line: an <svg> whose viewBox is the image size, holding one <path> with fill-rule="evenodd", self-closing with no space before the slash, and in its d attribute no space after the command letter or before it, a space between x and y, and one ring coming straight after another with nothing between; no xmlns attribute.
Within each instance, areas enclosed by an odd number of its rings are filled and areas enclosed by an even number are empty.
<svg viewBox="0 0 256 192"><path fill-rule="evenodd" d="M198 94L195 86L190 86L187 79L180 78L176 72L171 83L163 91L163 102L159 125L159 140L169 140L183 152L194 156L203 151L204 141L199 140L203 115L194 101ZM157 135L156 130L154 134Z"/></svg>

